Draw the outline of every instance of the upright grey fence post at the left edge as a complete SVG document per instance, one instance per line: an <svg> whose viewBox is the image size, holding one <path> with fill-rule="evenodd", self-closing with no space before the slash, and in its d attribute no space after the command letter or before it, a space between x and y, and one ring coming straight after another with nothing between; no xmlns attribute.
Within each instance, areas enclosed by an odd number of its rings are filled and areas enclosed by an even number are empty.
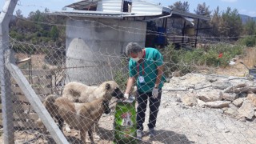
<svg viewBox="0 0 256 144"><path fill-rule="evenodd" d="M9 49L9 23L18 0L6 0L0 14L0 81L2 93L3 143L14 143L13 103L10 73L6 70L4 51Z"/></svg>

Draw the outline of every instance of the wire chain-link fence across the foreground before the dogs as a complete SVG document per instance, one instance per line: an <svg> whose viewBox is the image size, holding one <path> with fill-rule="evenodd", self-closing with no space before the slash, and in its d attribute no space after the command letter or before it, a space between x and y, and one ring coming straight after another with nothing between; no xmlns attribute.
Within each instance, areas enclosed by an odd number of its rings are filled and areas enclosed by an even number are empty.
<svg viewBox="0 0 256 144"><path fill-rule="evenodd" d="M150 137L147 126L149 115L154 113L149 111L150 101L144 103L147 106L144 133L139 140L135 111L138 102L118 101L129 77L130 58L125 54L109 53L101 47L98 51L88 51L91 60L87 61L66 56L66 48L62 46L10 40L14 54L10 61L22 71L70 143L92 142L92 138L96 143L256 142L255 69L246 70L239 63L243 60L249 64L254 56L246 56L256 54L255 49L246 53L242 46L214 41L192 51L176 50L171 45L159 49L164 57L167 82L162 87L155 135ZM53 135L44 128L22 86L12 76L7 79L10 79L7 87L11 88L8 97L12 98L15 143L54 143ZM144 97L134 89L132 95ZM4 137L2 133L1 140Z"/></svg>

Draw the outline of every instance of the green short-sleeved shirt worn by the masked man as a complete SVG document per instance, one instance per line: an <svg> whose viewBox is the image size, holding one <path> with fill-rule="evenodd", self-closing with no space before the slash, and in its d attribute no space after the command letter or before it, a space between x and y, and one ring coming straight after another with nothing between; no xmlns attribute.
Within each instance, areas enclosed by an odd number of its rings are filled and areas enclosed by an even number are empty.
<svg viewBox="0 0 256 144"><path fill-rule="evenodd" d="M144 83L140 83L137 77L137 88L142 93L148 93L153 90L156 78L158 76L157 67L163 65L162 54L157 49L149 47L145 48L145 50L146 55L144 56L143 62L135 62L133 58L130 58L129 61L130 77L143 76L145 80ZM164 82L166 82L166 78L164 77L164 75L162 75L162 80L159 84L159 88L162 88Z"/></svg>

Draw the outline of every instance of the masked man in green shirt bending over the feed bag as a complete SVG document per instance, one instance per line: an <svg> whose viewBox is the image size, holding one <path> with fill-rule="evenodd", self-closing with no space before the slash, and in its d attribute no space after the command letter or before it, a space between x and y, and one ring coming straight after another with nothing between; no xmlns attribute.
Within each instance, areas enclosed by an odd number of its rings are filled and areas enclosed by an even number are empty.
<svg viewBox="0 0 256 144"><path fill-rule="evenodd" d="M137 138L142 139L143 123L147 101L150 101L149 134L154 137L155 123L158 116L158 108L161 102L163 82L163 57L154 48L142 48L136 42L130 42L126 46L126 54L130 57L129 73L125 97L128 98L130 90L136 81L137 86Z"/></svg>

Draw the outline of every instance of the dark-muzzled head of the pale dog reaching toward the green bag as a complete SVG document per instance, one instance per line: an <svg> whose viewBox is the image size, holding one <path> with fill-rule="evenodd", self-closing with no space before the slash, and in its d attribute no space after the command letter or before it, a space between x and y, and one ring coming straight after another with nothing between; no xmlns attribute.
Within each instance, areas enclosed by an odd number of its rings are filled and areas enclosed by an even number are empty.
<svg viewBox="0 0 256 144"><path fill-rule="evenodd" d="M106 90L106 96L107 97L115 97L115 98L123 98L122 91L119 89L119 86L116 82L114 81L108 81L108 82L103 82L102 86Z"/></svg>

